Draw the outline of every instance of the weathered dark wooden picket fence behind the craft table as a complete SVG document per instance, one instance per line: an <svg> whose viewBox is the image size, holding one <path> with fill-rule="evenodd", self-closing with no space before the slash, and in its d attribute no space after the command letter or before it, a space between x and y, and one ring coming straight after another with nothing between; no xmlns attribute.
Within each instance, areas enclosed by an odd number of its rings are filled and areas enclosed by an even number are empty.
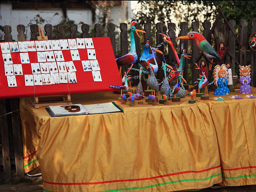
<svg viewBox="0 0 256 192"><path fill-rule="evenodd" d="M230 20L229 24L233 31L235 31L235 26L236 26L236 21L235 20ZM199 31L199 27L201 24L198 22L192 22L191 28L193 31L197 31L202 33L205 37L208 36L210 29L211 29L211 22L209 21L204 21L202 23L203 26L203 31ZM240 43L246 48L246 49L241 49L240 47L237 46L235 42L235 37L232 36L231 31L228 33L228 42L226 45L229 48L229 52L233 54L234 56L237 55L236 60L240 62L240 64L245 65L246 61L247 64L250 63L252 65L252 86L256 85L256 81L254 81L254 77L256 76L256 70L255 70L255 63L256 63L256 52L248 50L248 38L252 32L256 31L256 19L253 19L251 21L251 27L249 30L247 30L247 25L248 22L247 20L241 20L239 23L239 41ZM135 24L135 27L138 29L142 29L138 24ZM146 23L144 26L144 30L146 33L144 34L144 42L149 39L149 44L152 43L152 39L156 38L156 44L160 44L163 42L163 37L159 33L164 33L163 29L163 23L159 22L156 23L155 27L156 28L156 34L152 34L152 25L150 23ZM90 37L90 27L87 24L82 25L82 38L88 38ZM130 28L130 26L129 26ZM177 40L176 40L176 34L175 34L175 24L174 23L168 23L167 29L168 29L168 35L171 37L172 42L174 47L177 47ZM12 28L10 26L4 26L4 40L3 41L12 41L13 37L11 35ZM37 36L39 36L38 33L38 26L36 24L33 24L30 26L31 30L31 40L37 40ZM45 36L48 36L48 39L53 39L53 33L52 33L52 25L51 24L46 24L44 26L44 31L45 31ZM115 35L115 25L113 23L108 24L108 36L110 37L112 46L113 46L113 51L116 55L116 35ZM120 44L121 44L121 55L124 55L128 53L130 45L128 45L128 25L126 23L121 23L120 24ZM216 30L217 32L222 33L223 32L223 22L219 21L217 23ZM18 25L17 26L17 31L18 31L18 41L26 41L27 37L25 35L25 26L24 25ZM94 25L94 36L93 37L101 37L102 32L101 32L101 26L100 24L95 24ZM58 39L64 39L65 38L65 32L64 32L64 26L62 24L57 25L57 36ZM188 32L188 23L187 22L181 22L180 23L180 34L179 36L184 36L187 35ZM72 24L70 25L70 38L76 38L78 37L77 33L77 25ZM207 39L210 43L212 42L212 39ZM188 49L188 44L191 44L191 52L189 52L189 55L192 55L192 59L189 60L189 63L192 64L196 60L197 56L199 55L199 50L196 47L194 42L188 42L187 40L180 40L180 43L184 43L185 49ZM136 52L138 54L138 58L141 55L140 51L140 39L135 36L135 44L136 44ZM104 46L104 45L102 45ZM237 50L236 50L236 47ZM164 51L163 47L160 48L161 51ZM178 52L180 52L180 48L178 49ZM238 54L236 54L236 52ZM165 53L166 56L166 61L167 63L174 62L174 54L172 52L171 47L168 47L168 52ZM120 56L120 55L116 55ZM158 54L158 57L162 58L162 55ZM234 74L235 71L235 61L231 60L232 64L232 71ZM135 64L134 67L138 67L138 64ZM126 70L126 68L123 68L123 72ZM185 66L184 69L184 78L186 80L189 79L188 77L188 65ZM199 72L198 70L193 67L192 69L192 82L198 78ZM138 72L134 72L134 75L138 75ZM158 74L156 76L159 79L162 79L163 77L163 71L159 70ZM191 79L190 79L191 80ZM134 80L134 84L138 84L138 80ZM12 113L10 113L12 112ZM9 113L8 115L5 115L6 113ZM16 99L6 99L6 100L0 100L0 120L1 120L1 142L2 144L2 157L0 155L0 160L1 160L1 165L3 168L3 171L1 175L5 177L11 176L11 164L16 167L16 173L18 177L24 177L24 169L23 169L23 152L22 152L22 140L21 140L21 124L20 124L20 114L19 114L19 98ZM13 142L12 148L10 151L10 140ZM1 146L1 145L0 145ZM1 170L1 169L0 169Z"/></svg>

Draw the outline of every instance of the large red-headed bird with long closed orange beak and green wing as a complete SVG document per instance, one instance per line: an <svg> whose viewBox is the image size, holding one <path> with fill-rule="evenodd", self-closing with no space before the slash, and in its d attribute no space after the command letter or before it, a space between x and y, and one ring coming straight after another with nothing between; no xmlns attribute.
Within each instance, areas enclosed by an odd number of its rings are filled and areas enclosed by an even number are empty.
<svg viewBox="0 0 256 192"><path fill-rule="evenodd" d="M178 39L195 39L196 46L203 52L205 57L208 59L216 58L218 61L221 60L220 55L212 48L211 44L198 32L191 31L188 32L186 36L180 36Z"/></svg>

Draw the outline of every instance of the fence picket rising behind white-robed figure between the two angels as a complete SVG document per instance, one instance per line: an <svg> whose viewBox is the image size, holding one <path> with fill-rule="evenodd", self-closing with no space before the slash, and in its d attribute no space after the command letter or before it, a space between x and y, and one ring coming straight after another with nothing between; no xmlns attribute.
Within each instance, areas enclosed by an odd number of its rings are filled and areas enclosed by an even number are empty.
<svg viewBox="0 0 256 192"><path fill-rule="evenodd" d="M233 31L235 31L236 27L236 21L235 20L229 20L228 21L230 27L232 28ZM233 33L231 30L229 30L229 35L228 35L228 50L229 52L235 57L236 56L236 39L233 36ZM231 59L231 66L232 66L232 73L235 75L235 60Z"/></svg>

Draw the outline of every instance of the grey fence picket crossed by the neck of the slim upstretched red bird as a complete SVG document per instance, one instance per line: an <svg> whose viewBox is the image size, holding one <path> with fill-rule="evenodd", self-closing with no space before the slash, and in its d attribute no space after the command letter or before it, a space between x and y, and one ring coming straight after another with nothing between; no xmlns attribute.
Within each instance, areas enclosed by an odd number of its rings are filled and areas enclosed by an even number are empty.
<svg viewBox="0 0 256 192"><path fill-rule="evenodd" d="M171 38L173 47L176 48L177 44L176 44L176 34L175 34L175 23L168 23L167 24L167 28L168 28L168 35ZM175 55L172 51L171 45L168 44L168 63L177 63L176 59L175 59Z"/></svg>

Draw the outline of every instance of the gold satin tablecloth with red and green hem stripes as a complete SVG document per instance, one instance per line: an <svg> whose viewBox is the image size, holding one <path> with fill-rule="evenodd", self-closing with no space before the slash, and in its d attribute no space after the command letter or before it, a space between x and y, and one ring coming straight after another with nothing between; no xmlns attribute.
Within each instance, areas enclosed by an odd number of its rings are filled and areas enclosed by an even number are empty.
<svg viewBox="0 0 256 192"><path fill-rule="evenodd" d="M21 99L25 171L40 163L44 191L54 192L256 184L256 99L222 97L129 107L112 92L74 94L74 104L116 101L124 113L66 117Z"/></svg>

